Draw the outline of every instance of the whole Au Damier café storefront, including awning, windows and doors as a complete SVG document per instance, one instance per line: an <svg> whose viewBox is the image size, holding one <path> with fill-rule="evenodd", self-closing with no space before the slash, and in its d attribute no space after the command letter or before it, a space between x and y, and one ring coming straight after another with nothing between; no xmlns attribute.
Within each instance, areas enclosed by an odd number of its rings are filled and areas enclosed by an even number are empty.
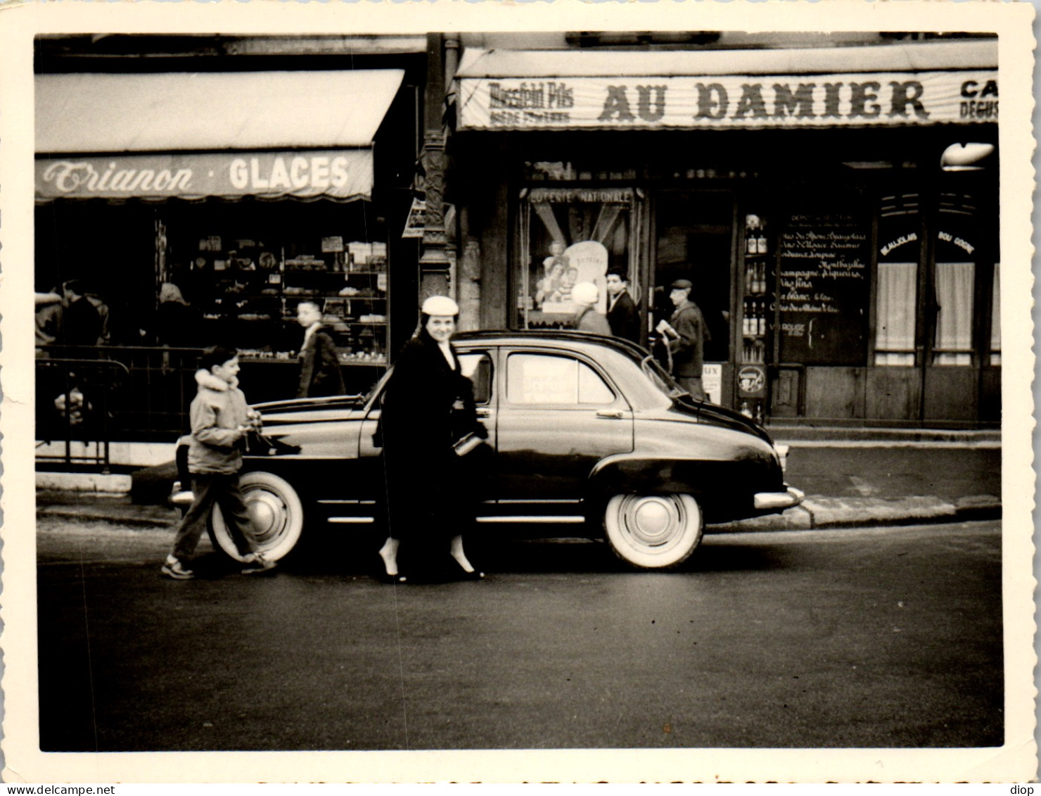
<svg viewBox="0 0 1041 796"><path fill-rule="evenodd" d="M621 271L656 350L685 278L714 401L772 424L997 425L996 65L979 39L466 50L453 179L481 325L566 328L570 283L605 312Z"/></svg>

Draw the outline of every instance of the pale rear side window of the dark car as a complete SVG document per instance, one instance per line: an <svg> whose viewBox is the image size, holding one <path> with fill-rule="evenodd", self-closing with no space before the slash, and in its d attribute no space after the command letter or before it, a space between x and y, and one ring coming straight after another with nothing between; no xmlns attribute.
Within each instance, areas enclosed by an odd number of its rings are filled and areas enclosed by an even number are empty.
<svg viewBox="0 0 1041 796"><path fill-rule="evenodd" d="M604 405L614 393L592 368L570 356L510 354L506 399L513 404Z"/></svg>

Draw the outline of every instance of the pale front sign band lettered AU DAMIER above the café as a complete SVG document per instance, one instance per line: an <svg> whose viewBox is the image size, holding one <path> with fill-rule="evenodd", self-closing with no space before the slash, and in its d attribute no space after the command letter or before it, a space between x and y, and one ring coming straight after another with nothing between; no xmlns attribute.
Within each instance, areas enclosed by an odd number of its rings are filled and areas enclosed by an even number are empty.
<svg viewBox="0 0 1041 796"><path fill-rule="evenodd" d="M832 127L997 121L997 70L461 78L473 129Z"/></svg>

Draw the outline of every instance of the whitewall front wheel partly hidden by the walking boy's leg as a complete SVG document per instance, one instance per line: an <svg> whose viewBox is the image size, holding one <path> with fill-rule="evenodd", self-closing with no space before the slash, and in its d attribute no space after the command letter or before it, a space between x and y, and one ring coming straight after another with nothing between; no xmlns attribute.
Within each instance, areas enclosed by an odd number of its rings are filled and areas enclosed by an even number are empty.
<svg viewBox="0 0 1041 796"><path fill-rule="evenodd" d="M304 506L288 481L273 473L243 473L238 479L260 551L271 561L284 557L300 541L304 529ZM209 538L214 547L236 561L238 552L231 529L219 506L209 516Z"/></svg>

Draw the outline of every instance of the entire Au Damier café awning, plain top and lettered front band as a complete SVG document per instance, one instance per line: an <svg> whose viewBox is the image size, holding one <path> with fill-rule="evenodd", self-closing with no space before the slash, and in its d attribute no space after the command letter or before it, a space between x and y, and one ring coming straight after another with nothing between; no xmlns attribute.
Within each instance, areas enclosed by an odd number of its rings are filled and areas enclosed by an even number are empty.
<svg viewBox="0 0 1041 796"><path fill-rule="evenodd" d="M997 121L997 42L770 50L467 50L461 128L712 129Z"/></svg>

